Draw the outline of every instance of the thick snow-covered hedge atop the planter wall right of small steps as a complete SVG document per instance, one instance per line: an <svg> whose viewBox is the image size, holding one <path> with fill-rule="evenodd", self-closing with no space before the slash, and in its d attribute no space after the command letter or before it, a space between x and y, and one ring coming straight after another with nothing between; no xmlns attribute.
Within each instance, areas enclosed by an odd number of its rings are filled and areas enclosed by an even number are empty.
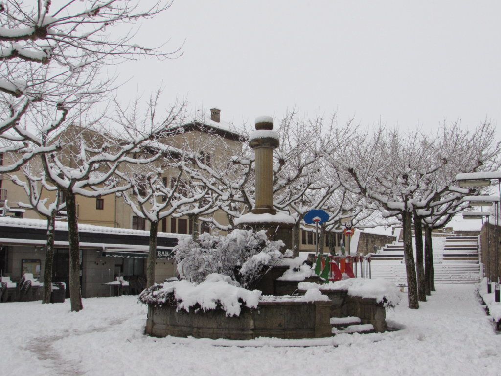
<svg viewBox="0 0 501 376"><path fill-rule="evenodd" d="M400 294L397 286L382 278L349 278L341 281L319 285L312 282L301 282L300 290L319 289L320 291L346 290L348 295L362 298L373 298L385 307L395 307L400 302Z"/></svg>

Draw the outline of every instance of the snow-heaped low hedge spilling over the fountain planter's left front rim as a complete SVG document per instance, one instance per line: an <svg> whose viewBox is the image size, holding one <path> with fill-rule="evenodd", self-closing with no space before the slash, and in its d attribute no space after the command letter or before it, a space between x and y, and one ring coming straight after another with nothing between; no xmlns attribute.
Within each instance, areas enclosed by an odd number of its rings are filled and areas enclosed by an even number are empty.
<svg viewBox="0 0 501 376"><path fill-rule="evenodd" d="M139 300L155 306L176 305L186 312L190 309L206 311L220 308L226 316L238 316L242 304L247 308L256 308L260 297L261 291L237 287L230 277L213 273L200 284L181 280L151 286L139 295Z"/></svg>

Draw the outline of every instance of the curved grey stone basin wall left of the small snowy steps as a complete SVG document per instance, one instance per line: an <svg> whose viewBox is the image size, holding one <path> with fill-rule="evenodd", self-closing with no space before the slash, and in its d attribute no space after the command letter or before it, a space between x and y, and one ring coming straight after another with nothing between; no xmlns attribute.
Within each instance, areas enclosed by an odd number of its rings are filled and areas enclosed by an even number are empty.
<svg viewBox="0 0 501 376"><path fill-rule="evenodd" d="M239 316L225 315L221 309L176 310L175 306L149 306L146 332L195 338L254 339L321 338L331 336L330 301L260 302L257 309L242 307Z"/></svg>

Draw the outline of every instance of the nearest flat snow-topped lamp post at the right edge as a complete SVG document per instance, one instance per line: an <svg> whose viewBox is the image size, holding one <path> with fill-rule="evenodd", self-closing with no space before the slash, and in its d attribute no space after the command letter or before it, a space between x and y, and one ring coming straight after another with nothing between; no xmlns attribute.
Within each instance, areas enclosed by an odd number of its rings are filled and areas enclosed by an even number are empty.
<svg viewBox="0 0 501 376"><path fill-rule="evenodd" d="M485 200L485 197L482 197L483 200L478 199L476 201L476 205L480 206L478 203L482 203L482 206L488 205L487 203L490 201L491 205L494 203L494 226L495 226L495 250L496 250L496 279L499 282L499 207L501 202L499 199L501 198L501 171L491 171L491 172L469 172L469 173L458 173L456 175L456 180L461 187L482 187L489 186L495 184L497 180L497 190L499 196L490 196L492 200ZM493 182L494 181L494 182ZM469 197L471 198L471 197ZM495 200L497 198L497 200ZM469 200L468 200L469 201ZM480 212L481 213L481 212ZM481 217L481 216L480 216ZM463 215L464 218L464 215ZM488 252L487 252L488 254Z"/></svg>

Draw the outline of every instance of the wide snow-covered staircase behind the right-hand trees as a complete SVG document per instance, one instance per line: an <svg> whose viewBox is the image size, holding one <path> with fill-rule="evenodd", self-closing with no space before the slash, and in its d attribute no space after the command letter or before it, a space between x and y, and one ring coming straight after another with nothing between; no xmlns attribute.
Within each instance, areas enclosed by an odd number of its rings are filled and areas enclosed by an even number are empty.
<svg viewBox="0 0 501 376"><path fill-rule="evenodd" d="M477 237L432 237L432 245L435 283L476 284L480 282ZM372 278L384 278L406 285L407 277L403 258L403 243L387 244L371 257Z"/></svg>

